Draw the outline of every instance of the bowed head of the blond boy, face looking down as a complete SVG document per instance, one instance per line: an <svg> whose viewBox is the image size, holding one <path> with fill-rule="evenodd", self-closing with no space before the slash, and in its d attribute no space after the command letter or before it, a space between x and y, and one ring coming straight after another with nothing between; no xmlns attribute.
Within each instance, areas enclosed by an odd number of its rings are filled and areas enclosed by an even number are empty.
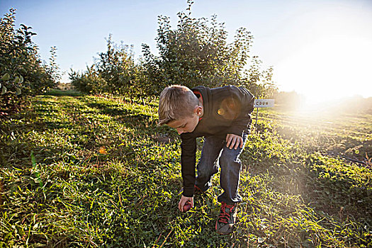
<svg viewBox="0 0 372 248"><path fill-rule="evenodd" d="M159 125L176 128L179 134L191 133L203 115L203 106L186 86L172 85L160 94L158 113Z"/></svg>

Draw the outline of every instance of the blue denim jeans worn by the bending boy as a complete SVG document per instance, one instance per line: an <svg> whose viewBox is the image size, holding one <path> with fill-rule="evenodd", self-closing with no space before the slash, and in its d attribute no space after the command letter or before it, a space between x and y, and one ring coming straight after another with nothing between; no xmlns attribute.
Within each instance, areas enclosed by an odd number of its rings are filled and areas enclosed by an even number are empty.
<svg viewBox="0 0 372 248"><path fill-rule="evenodd" d="M201 150L201 159L198 162L195 184L201 191L207 191L212 186L211 179L218 172L220 167L220 185L223 193L218 196L219 202L227 204L239 203L242 196L239 196L239 176L242 169L239 155L244 149L247 140L247 134L243 133L243 148L238 147L230 149L226 147L226 139L222 137L205 137L203 150Z"/></svg>

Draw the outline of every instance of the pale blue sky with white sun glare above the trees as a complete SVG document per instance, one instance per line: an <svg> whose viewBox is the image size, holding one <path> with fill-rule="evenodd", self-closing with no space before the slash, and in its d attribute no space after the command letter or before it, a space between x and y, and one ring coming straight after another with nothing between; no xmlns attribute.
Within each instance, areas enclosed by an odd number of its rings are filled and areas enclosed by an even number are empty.
<svg viewBox="0 0 372 248"><path fill-rule="evenodd" d="M0 0L0 13L16 9L16 25L33 27L43 60L57 47L57 63L68 72L85 70L115 43L141 44L157 54L157 17L177 13L186 0ZM254 36L251 56L274 68L280 91L296 91L314 102L372 96L372 0L194 0L194 18L217 15L228 41L244 27Z"/></svg>

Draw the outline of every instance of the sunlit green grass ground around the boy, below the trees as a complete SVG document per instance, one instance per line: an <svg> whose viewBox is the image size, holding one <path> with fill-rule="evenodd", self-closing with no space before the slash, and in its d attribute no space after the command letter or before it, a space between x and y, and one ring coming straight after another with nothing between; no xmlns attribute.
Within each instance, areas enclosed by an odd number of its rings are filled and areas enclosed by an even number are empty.
<svg viewBox="0 0 372 248"><path fill-rule="evenodd" d="M227 236L218 175L179 213L180 140L155 101L37 96L0 128L0 247L372 247L372 115L260 111Z"/></svg>

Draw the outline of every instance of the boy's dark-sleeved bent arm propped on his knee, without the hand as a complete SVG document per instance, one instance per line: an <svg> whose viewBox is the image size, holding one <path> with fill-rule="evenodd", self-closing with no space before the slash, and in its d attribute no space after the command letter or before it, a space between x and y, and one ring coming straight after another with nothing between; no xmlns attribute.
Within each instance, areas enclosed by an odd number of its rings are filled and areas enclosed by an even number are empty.
<svg viewBox="0 0 372 248"><path fill-rule="evenodd" d="M242 136L244 129L251 123L251 113L254 109L254 96L243 87L232 88L232 95L241 104L241 111L232 125L227 129L228 134Z"/></svg>

